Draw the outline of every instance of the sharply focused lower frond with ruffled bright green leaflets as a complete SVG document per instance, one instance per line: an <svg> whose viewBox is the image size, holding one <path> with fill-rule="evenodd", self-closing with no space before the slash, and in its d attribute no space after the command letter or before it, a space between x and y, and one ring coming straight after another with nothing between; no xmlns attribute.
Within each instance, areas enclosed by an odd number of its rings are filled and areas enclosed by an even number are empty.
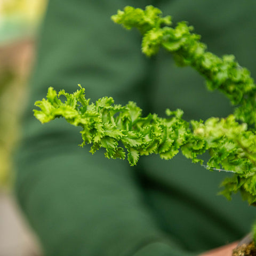
<svg viewBox="0 0 256 256"><path fill-rule="evenodd" d="M167 109L167 118L156 114L142 117L142 110L132 101L121 106L115 105L113 98L103 97L90 103L84 92L81 87L73 94L64 90L57 94L50 87L46 99L36 101L41 110L34 110L34 115L41 123L64 117L68 123L82 127L81 146L92 143L92 154L105 148L106 157L125 159L127 155L130 165L149 154L171 159L179 150L194 163L203 164L198 156L208 150L211 156L208 169L222 167L236 173L235 180L223 182L222 194L230 198L232 192L240 189L250 204L256 202L255 188L251 185L256 178L256 136L247 130L246 124L236 122L234 115L190 124L182 119L180 109ZM62 96L65 102L60 100Z"/></svg>

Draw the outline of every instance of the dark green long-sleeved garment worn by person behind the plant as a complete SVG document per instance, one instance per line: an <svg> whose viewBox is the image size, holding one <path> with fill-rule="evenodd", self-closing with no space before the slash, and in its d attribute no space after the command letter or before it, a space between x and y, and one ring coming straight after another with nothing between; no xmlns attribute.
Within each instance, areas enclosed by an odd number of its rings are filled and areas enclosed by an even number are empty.
<svg viewBox="0 0 256 256"><path fill-rule="evenodd" d="M185 118L225 117L233 108L208 92L195 70L160 51L140 52L138 31L110 20L126 5L153 4L174 23L186 20L215 54L234 54L255 76L253 0L50 0L39 39L23 138L16 156L17 198L46 256L194 255L249 233L255 210L240 195L217 196L228 174L210 172L178 155L151 155L135 167L79 148L79 128L57 119L40 124L34 102L47 87L73 92L80 83L92 101L132 100L143 115L181 108Z"/></svg>

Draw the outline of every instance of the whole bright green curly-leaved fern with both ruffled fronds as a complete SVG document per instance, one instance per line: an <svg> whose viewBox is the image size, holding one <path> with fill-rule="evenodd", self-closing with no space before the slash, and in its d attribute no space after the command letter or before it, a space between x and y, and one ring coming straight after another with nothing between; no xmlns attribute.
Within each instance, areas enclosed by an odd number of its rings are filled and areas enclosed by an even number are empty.
<svg viewBox="0 0 256 256"><path fill-rule="evenodd" d="M135 165L141 155L154 153L171 159L179 150L193 163L204 164L198 156L208 151L207 169L234 173L222 182L221 194L230 199L232 193L241 191L243 199L256 204L256 86L249 70L239 66L233 55L219 58L207 52L200 36L192 33L193 27L186 22L170 27L171 17L162 17L153 6L146 10L127 6L112 19L127 29L139 29L142 52L147 56L164 47L177 65L196 69L205 77L209 90L220 90L236 106L234 114L186 122L182 110L167 109L166 118L156 114L142 117L142 110L132 101L121 106L115 105L113 98L104 97L90 103L79 85L81 89L73 94L64 90L57 94L50 87L46 99L36 101L41 110L34 110L35 117L42 123L65 117L70 124L82 127L81 146L92 143L92 154L105 148L108 158L124 159L127 155L130 165ZM65 102L60 99L62 95Z"/></svg>

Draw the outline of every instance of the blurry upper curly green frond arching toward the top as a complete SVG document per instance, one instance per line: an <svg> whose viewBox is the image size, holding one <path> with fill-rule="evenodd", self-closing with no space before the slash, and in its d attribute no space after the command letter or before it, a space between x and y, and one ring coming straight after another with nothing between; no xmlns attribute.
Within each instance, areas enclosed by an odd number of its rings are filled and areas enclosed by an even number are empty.
<svg viewBox="0 0 256 256"><path fill-rule="evenodd" d="M256 112L253 110L256 108L256 86L250 71L239 66L233 55L219 58L207 52L206 45L199 41L201 36L193 34L194 28L185 21L179 22L174 28L164 26L171 25L171 17L163 18L162 12L153 6L147 6L145 11L127 6L112 19L127 29L134 27L142 31L142 52L148 57L163 47L173 54L177 65L196 69L206 78L209 90L218 89L233 105L237 105L237 119L255 126Z"/></svg>

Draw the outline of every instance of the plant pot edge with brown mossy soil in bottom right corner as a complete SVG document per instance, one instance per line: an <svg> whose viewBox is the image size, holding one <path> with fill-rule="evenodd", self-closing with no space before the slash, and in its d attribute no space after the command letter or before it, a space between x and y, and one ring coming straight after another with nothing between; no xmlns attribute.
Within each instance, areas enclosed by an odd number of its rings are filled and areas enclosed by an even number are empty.
<svg viewBox="0 0 256 256"><path fill-rule="evenodd" d="M232 256L256 256L252 234L245 236L233 250Z"/></svg>

